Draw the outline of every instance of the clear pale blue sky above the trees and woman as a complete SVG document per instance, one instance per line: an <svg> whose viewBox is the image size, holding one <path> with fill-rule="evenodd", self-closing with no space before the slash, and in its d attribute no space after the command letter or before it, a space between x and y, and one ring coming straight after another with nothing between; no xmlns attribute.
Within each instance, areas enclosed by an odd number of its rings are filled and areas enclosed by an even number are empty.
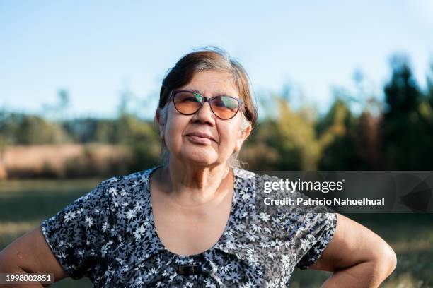
<svg viewBox="0 0 433 288"><path fill-rule="evenodd" d="M69 90L69 116L113 116L131 90L156 107L161 80L217 45L256 92L290 80L324 109L362 69L378 89L406 52L420 85L433 58L433 1L0 1L0 108L41 112ZM378 91L380 93L380 91Z"/></svg>

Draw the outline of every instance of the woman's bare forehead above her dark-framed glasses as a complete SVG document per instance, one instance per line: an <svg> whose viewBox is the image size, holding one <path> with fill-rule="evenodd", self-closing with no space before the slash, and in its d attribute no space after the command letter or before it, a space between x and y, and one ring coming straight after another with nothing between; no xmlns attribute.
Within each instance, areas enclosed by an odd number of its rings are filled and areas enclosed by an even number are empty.
<svg viewBox="0 0 433 288"><path fill-rule="evenodd" d="M238 90L231 73L226 71L201 71L195 73L190 83L183 86L182 90L190 90L204 96L230 95L238 96Z"/></svg>

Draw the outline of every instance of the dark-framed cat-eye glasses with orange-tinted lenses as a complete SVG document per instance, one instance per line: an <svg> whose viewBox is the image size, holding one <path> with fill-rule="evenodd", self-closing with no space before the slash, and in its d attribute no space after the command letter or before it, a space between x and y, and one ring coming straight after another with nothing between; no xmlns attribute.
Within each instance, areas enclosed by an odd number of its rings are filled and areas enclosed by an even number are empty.
<svg viewBox="0 0 433 288"><path fill-rule="evenodd" d="M208 102L212 112L219 119L232 119L241 109L242 100L231 96L204 97L197 92L187 90L175 90L171 92L171 98L175 109L180 114L192 115L203 107L204 102Z"/></svg>

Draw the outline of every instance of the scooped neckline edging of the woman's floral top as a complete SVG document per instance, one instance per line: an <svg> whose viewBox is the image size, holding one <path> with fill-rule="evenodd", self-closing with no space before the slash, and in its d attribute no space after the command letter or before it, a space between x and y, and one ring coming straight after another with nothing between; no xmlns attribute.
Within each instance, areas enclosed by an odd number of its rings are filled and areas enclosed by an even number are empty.
<svg viewBox="0 0 433 288"><path fill-rule="evenodd" d="M152 229L152 235L155 237L155 243L163 250L166 251L167 253L171 254L172 256L178 257L178 258L197 258L199 256L202 255L206 255L207 253L213 251L215 248L217 248L218 246L220 246L221 242L224 241L224 238L226 237L226 234L229 233L229 230L232 227L233 224L233 217L235 214L235 209L236 209L236 199L238 199L238 189L236 188L237 185L236 183L238 182L238 171L236 168L233 168L233 194L232 194L232 198L231 198L231 209L230 209L230 215L229 215L229 220L227 220L226 223L226 227L224 227L224 231L222 232L221 236L219 236L219 239L217 240L217 242L215 242L215 244L210 247L207 248L207 250L202 251L200 253L196 253L196 254L190 254L190 255L182 255L182 254L178 254L175 253L173 251L168 250L168 248L166 248L166 246L162 243L161 238L159 238L158 232L156 231L156 226L155 226L155 222L154 222L154 208L152 207L152 201L151 201L151 193L150 193L150 179L151 179L151 174L153 174L158 168L161 168L162 166L156 166L154 168L151 168L148 170L148 173L146 175L147 181L145 181L145 194L146 194L146 200L147 203L149 203L149 224L150 227Z"/></svg>

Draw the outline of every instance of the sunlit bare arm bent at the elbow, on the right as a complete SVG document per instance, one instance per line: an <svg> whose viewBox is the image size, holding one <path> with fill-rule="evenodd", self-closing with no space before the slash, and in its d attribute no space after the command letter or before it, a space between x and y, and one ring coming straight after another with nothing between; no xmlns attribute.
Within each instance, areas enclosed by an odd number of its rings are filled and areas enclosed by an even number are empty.
<svg viewBox="0 0 433 288"><path fill-rule="evenodd" d="M333 271L323 287L379 287L396 268L396 253L371 230L337 217L333 239L311 269Z"/></svg>

